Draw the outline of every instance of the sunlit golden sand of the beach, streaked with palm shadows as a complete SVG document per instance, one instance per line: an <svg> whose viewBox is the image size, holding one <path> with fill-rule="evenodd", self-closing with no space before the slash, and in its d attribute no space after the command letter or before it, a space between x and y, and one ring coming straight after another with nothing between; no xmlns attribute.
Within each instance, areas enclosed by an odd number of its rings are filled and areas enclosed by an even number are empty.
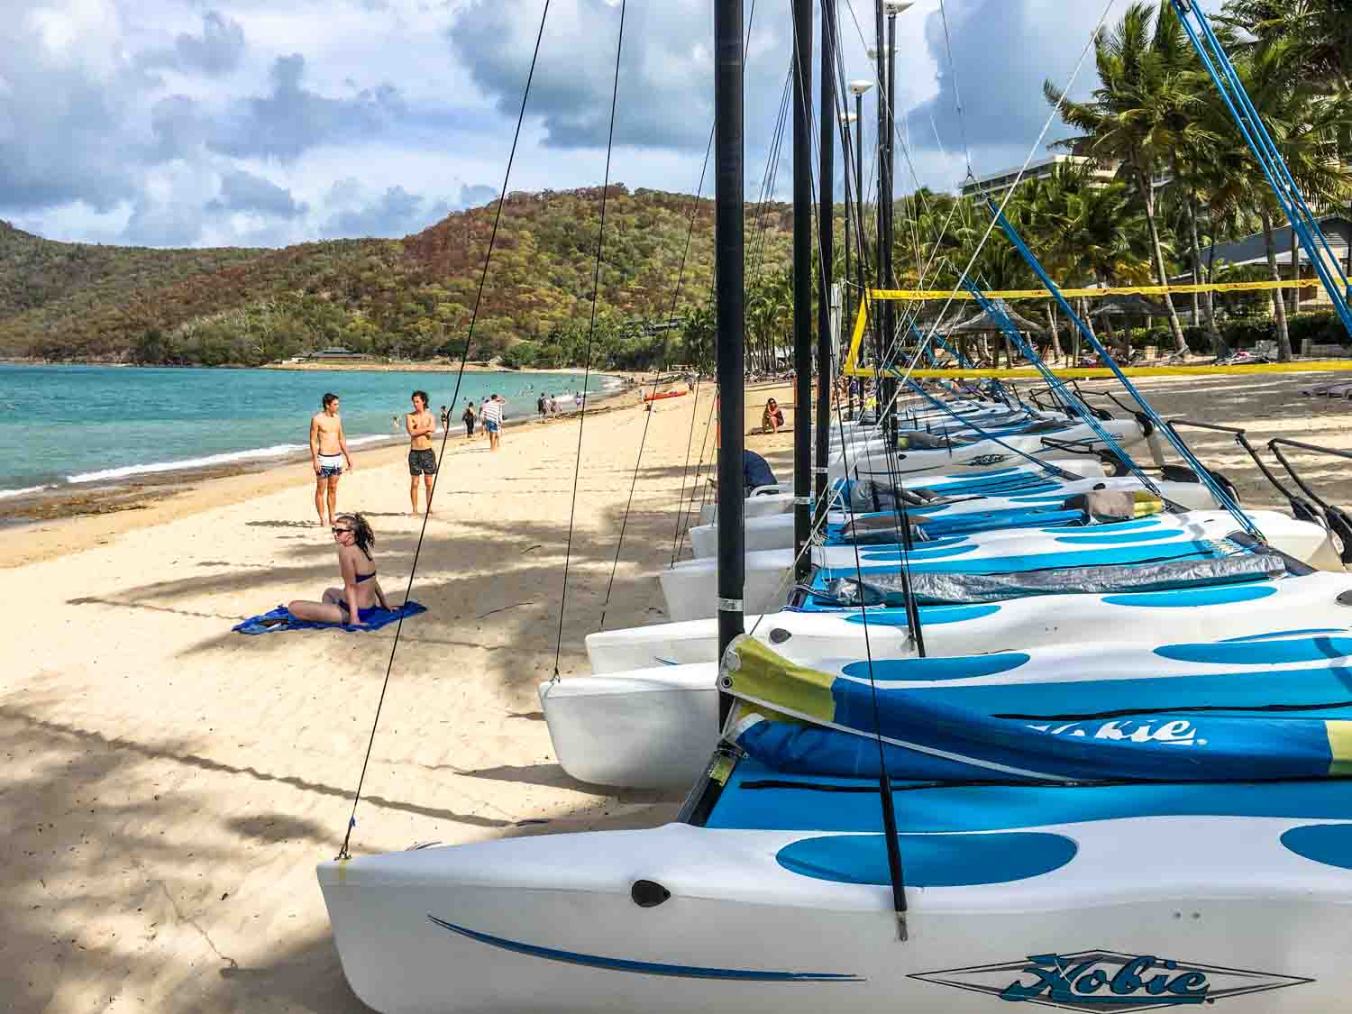
<svg viewBox="0 0 1352 1014"><path fill-rule="evenodd" d="M1298 395L1322 379L1141 387L1161 414L1245 427L1259 448L1287 435L1352 449L1352 402ZM788 388L760 387L748 429L772 393L794 423ZM656 575L691 488L685 462L691 476L698 460L708 470L711 385L652 414L633 392L615 406L512 427L499 453L452 433L410 595L429 612L406 623L393 658L354 853L676 813L676 798L564 775L535 696L560 625L568 679L585 671L583 637L603 614L606 627L664 618ZM1247 504L1284 508L1230 438L1190 441ZM791 443L788 433L748 438L786 480ZM395 600L422 527L406 514L404 457L356 453L339 495L339 508L370 518ZM1329 500L1352 503L1345 461L1293 460ZM3 530L3 1010L365 1010L343 980L314 864L342 841L393 627L231 633L337 584L331 538L315 525L308 462L191 485L137 510Z"/></svg>

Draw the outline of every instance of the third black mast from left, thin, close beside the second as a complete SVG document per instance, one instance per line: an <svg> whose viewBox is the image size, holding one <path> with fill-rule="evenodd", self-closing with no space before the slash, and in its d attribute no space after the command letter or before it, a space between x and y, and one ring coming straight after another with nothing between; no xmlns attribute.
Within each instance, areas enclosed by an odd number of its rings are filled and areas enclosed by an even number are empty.
<svg viewBox="0 0 1352 1014"><path fill-rule="evenodd" d="M821 168L817 185L821 207L817 212L818 266L817 293L817 510L826 510L826 466L831 446L831 274L834 273L836 224L836 4L822 4L822 96Z"/></svg>

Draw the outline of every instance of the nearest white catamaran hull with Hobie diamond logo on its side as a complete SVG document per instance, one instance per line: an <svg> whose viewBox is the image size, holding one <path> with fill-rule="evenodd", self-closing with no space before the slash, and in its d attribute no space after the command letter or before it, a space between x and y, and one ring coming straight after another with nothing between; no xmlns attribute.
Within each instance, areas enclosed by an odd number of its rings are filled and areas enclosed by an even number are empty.
<svg viewBox="0 0 1352 1014"><path fill-rule="evenodd" d="M347 982L384 1014L991 1014L1021 998L1333 1014L1352 988L1352 876L1283 848L1309 823L1190 815L1022 829L1032 837L1010 841L1068 842L1073 857L1022 879L907 888L904 942L888 887L776 861L804 831L667 825L318 873ZM903 840L903 853L921 838Z"/></svg>

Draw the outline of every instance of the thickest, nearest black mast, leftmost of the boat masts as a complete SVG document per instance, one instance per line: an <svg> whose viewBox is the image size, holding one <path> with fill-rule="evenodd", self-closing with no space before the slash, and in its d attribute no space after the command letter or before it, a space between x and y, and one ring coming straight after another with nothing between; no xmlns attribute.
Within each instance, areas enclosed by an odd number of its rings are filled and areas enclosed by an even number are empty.
<svg viewBox="0 0 1352 1014"><path fill-rule="evenodd" d="M742 626L746 323L742 172L742 0L714 3L714 253L718 273L718 654ZM719 727L733 699L719 691Z"/></svg>

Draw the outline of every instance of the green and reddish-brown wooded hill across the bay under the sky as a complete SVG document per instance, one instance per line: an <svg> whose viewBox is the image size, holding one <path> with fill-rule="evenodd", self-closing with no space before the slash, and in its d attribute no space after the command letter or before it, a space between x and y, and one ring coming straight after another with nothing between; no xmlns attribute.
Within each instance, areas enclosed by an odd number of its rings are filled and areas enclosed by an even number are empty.
<svg viewBox="0 0 1352 1014"><path fill-rule="evenodd" d="M600 197L600 188L508 195L473 358L581 361ZM397 358L458 356L495 212L496 203L457 212L403 239L283 250L55 243L4 224L0 354L218 365L342 345ZM791 218L784 204L748 210L749 273L758 264L772 270L787 264ZM711 265L710 200L694 206L690 195L611 185L595 361L648 365L638 360L669 339L625 338L631 322L671 318L677 277L677 315L704 303Z"/></svg>

